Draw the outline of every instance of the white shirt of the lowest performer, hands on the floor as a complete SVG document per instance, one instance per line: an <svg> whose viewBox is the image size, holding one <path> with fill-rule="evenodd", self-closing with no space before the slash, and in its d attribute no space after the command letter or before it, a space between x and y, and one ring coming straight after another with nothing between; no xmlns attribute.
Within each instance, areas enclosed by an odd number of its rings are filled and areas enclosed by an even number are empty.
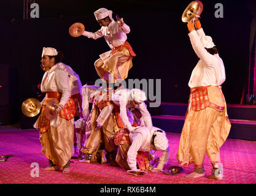
<svg viewBox="0 0 256 196"><path fill-rule="evenodd" d="M130 132L129 137L132 143L127 153L127 162L131 170L137 169L136 157L137 157L138 151L149 152L150 150L152 150L150 143L151 143L153 133L156 130L161 130L161 129L158 129L157 127L150 127L150 128L142 127L142 128L136 129L134 132ZM169 146L165 151L161 151L161 153L162 155L159 159L159 164L157 166L157 168L159 168L160 170L162 170L165 164L168 162L169 155L170 155Z"/></svg>

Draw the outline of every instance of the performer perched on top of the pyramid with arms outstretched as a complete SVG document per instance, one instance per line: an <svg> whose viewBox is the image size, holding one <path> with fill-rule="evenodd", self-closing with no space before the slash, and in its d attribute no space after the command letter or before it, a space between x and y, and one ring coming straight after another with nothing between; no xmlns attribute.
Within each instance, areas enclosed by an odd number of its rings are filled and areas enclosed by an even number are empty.
<svg viewBox="0 0 256 196"><path fill-rule="evenodd" d="M96 32L84 31L83 36L93 39L104 37L111 48L110 51L99 55L100 58L95 62L95 69L99 77L107 83L125 80L133 66L133 56L136 56L133 48L126 41L126 34L130 32L130 27L123 22L123 18L114 21L111 10L101 8L94 14L101 29Z"/></svg>

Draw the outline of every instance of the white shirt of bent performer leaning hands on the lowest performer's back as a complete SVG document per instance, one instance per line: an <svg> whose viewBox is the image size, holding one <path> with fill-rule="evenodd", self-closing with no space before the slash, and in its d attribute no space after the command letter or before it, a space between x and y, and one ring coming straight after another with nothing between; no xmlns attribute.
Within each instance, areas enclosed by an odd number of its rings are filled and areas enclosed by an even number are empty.
<svg viewBox="0 0 256 196"><path fill-rule="evenodd" d="M123 124L127 127L128 130L133 130L129 118L127 116L126 107L128 107L128 102L131 100L131 91L129 89L120 89L115 91L111 95L111 99L115 105L120 106L120 118L123 121ZM141 111L141 116L144 121L145 127L152 127L152 119L149 111L144 102L138 105L137 107Z"/></svg>

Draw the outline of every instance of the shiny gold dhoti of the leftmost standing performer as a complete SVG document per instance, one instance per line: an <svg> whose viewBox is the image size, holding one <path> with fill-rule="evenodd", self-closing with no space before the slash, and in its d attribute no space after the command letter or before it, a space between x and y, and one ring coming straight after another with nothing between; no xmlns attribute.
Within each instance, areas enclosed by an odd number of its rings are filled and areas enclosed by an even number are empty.
<svg viewBox="0 0 256 196"><path fill-rule="evenodd" d="M74 122L60 118L58 127L50 126L50 129L40 134L42 153L52 160L53 164L63 168L74 153Z"/></svg>

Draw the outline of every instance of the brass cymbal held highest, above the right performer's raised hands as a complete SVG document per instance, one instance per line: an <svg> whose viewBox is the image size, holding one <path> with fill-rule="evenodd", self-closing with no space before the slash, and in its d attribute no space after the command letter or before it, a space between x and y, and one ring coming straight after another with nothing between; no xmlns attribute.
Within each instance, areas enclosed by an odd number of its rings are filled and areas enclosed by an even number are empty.
<svg viewBox="0 0 256 196"><path fill-rule="evenodd" d="M181 20L184 23L192 20L196 13L200 15L203 12L203 3L201 1L192 1L182 13Z"/></svg>

